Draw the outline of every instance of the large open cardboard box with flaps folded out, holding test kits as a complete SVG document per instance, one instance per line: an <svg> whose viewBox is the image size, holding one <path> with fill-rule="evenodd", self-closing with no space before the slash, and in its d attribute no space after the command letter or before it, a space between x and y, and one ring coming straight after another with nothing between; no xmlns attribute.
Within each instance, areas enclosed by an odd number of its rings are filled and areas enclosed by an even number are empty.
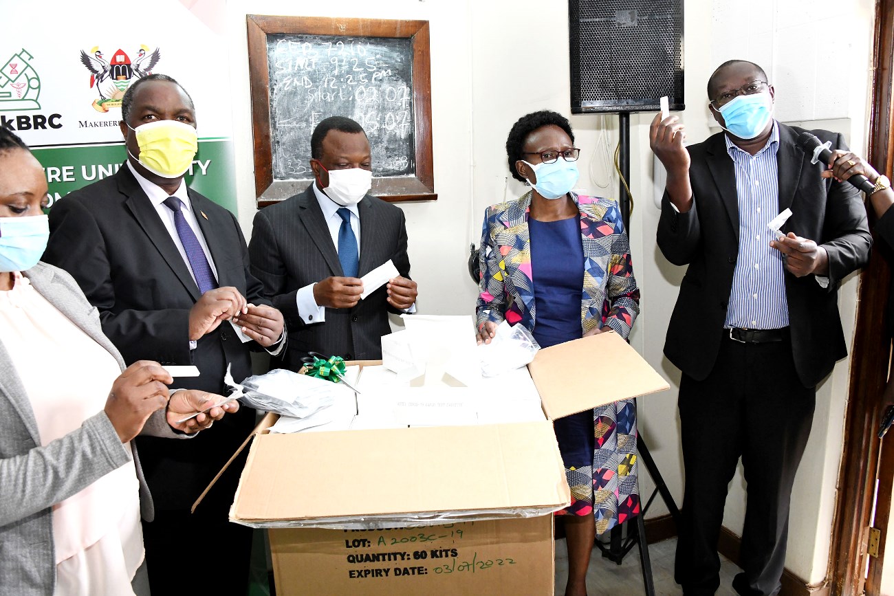
<svg viewBox="0 0 894 596"><path fill-rule="evenodd" d="M528 370L543 422L271 434L265 416L230 520L277 528L277 594L552 593L550 514L569 504L552 420L668 383L614 332Z"/></svg>

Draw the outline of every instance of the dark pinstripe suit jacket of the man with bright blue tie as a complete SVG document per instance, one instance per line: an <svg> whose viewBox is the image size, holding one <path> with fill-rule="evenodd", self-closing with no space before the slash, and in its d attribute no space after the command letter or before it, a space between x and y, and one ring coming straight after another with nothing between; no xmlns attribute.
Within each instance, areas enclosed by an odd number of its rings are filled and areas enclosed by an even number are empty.
<svg viewBox="0 0 894 596"><path fill-rule="evenodd" d="M409 278L407 226L400 208L367 195L358 203L360 261L358 277L392 259ZM382 357L389 304L384 286L353 308L327 308L325 323L305 324L295 296L304 286L330 276L342 276L333 244L314 189L265 207L255 215L249 243L251 273L264 283L264 292L285 317L289 344L283 366L298 370L308 350L345 360Z"/></svg>

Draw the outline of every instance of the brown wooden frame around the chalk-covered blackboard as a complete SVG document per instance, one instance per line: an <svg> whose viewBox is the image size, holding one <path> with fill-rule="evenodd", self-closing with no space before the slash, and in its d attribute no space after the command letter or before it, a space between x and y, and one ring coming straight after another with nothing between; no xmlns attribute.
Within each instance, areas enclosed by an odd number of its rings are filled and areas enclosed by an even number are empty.
<svg viewBox="0 0 894 596"><path fill-rule="evenodd" d="M267 206L308 187L307 180L274 180L270 139L270 71L267 35L307 34L367 38L409 38L413 47L413 124L416 175L373 179L371 193L386 201L434 200L432 152L432 83L428 21L341 19L327 17L246 15L249 36L249 84L255 148L255 193Z"/></svg>

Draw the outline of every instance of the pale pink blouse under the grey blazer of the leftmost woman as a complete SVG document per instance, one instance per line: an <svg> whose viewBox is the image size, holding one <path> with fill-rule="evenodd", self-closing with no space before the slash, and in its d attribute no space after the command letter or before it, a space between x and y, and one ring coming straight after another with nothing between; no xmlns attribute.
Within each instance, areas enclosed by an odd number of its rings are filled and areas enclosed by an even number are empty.
<svg viewBox="0 0 894 596"><path fill-rule="evenodd" d="M41 296L20 273L0 291L0 329L30 398L42 445L105 407L121 374L114 357ZM130 450L130 443L125 445ZM133 460L53 506L55 593L132 594L143 561L139 481Z"/></svg>

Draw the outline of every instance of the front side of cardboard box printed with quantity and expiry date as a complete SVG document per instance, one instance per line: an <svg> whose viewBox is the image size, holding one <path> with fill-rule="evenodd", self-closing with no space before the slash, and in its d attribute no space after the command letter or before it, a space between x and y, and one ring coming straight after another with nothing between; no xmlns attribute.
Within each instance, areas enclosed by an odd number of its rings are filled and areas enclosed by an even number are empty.
<svg viewBox="0 0 894 596"><path fill-rule="evenodd" d="M552 594L552 515L269 533L277 594Z"/></svg>

